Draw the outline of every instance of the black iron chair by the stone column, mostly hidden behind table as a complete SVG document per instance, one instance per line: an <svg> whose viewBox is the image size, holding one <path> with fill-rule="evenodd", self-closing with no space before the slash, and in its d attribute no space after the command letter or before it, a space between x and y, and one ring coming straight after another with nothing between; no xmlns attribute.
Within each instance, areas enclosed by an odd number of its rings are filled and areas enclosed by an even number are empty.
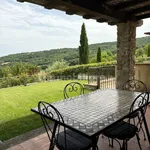
<svg viewBox="0 0 150 150"><path fill-rule="evenodd" d="M127 90L127 91L136 91L136 92L147 92L147 87L146 85L144 84L144 82L140 81L140 80L136 80L136 79L132 79L132 80L128 80L126 81L124 84L123 84L123 90ZM136 112L132 115L130 115L131 118L134 118L134 117L138 117L139 112ZM143 132L143 135L144 135L144 140L146 140L146 135L145 135L145 132L144 132L144 129L143 127L141 126L141 130Z"/></svg>

